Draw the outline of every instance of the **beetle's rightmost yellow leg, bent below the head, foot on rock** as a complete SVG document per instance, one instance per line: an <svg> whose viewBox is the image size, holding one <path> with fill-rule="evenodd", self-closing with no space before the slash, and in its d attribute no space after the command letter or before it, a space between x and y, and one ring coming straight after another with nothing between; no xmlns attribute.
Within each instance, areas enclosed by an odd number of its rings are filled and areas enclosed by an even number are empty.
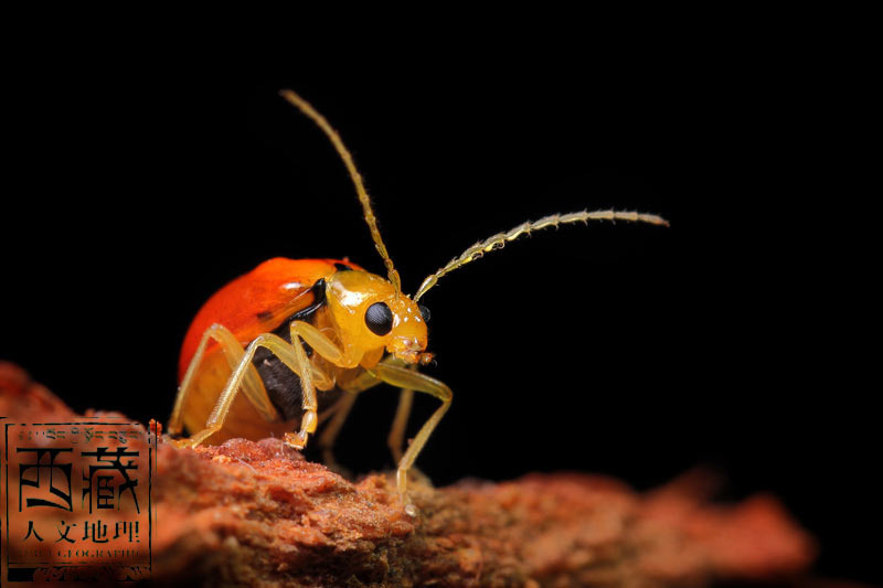
<svg viewBox="0 0 883 588"><path fill-rule="evenodd" d="M433 413L433 416L430 416L429 419L424 423L423 427L421 427L421 430L417 431L417 435L411 442L411 446L407 448L407 451L405 451L405 455L402 456L402 459L398 462L398 471L396 472L398 495L402 499L402 503L405 505L405 512L414 516L417 514L417 509L414 506L407 495L407 472L414 464L414 460L417 459L423 446L426 445L426 440L429 438L429 435L432 435L433 429L435 429L436 425L438 425L438 421L442 420L442 417L445 416L445 413L447 413L448 407L450 406L453 393L446 384L425 374L413 372L406 367L379 363L376 367L370 372L375 373L380 379L386 382L387 384L398 386L403 389L425 392L442 400L442 406L439 406L436 411Z"/></svg>

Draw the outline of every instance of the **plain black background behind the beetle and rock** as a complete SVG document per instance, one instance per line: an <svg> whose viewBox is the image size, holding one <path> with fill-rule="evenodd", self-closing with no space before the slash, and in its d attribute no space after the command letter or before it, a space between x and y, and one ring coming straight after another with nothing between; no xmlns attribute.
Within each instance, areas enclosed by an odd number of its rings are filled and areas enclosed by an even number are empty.
<svg viewBox="0 0 883 588"><path fill-rule="evenodd" d="M820 574L879 579L873 357L853 330L869 233L839 200L837 67L823 41L713 36L371 53L157 38L21 62L0 357L77 410L164 420L215 289L274 256L380 272L342 164L277 96L290 87L353 151L407 291L524 220L671 221L540 233L427 295L426 372L455 393L418 461L434 481L577 470L647 489L706 464L724 499L777 494L819 537ZM392 466L395 397L357 404L338 451L357 472ZM413 430L434 407L419 398Z"/></svg>

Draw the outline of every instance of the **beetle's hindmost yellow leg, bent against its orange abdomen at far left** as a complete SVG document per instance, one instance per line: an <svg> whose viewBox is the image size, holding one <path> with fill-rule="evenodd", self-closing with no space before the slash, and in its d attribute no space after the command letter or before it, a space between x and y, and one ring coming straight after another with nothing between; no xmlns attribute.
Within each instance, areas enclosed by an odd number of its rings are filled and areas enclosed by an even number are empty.
<svg viewBox="0 0 883 588"><path fill-rule="evenodd" d="M221 352L227 360L230 370L235 371L242 363L242 357L245 355L245 350L242 344L236 340L236 336L222 324L212 324L202 335L196 353L190 360L190 365L184 373L181 385L178 387L178 395L174 398L174 408L172 408L172 416L169 418L168 435L180 435L183 429L183 407L184 400L190 394L193 385L193 378L196 375L202 359L205 355L205 348L210 340L215 340L221 345ZM242 389L245 397L257 409L258 414L268 421L276 421L279 419L279 413L273 406L264 384L260 383L260 376L257 370L249 364L249 368L245 371L242 378Z"/></svg>

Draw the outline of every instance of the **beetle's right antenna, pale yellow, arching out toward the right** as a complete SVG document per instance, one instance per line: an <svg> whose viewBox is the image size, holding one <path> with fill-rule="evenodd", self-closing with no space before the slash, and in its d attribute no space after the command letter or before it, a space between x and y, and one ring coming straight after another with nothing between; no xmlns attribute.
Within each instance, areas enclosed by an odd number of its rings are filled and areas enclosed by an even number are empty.
<svg viewBox="0 0 883 588"><path fill-rule="evenodd" d="M462 267L470 261L475 261L482 257L486 253L493 252L496 249L502 249L503 246L515 240L517 238L523 235L530 235L534 231L539 231L541 228L547 228L550 226L558 226L568 223L585 223L588 224L588 221L637 221L641 223L650 223L652 225L664 225L669 226L669 222L662 218L661 216L657 216L656 214L643 214L639 212L626 212L626 211L594 211L594 212L572 212L570 214L552 214L549 216L544 216L539 221L522 223L514 228L507 231L506 233L498 233L493 236L486 238L485 240L480 240L466 249L459 257L455 257L448 264L436 271L435 274L429 275L428 278L423 280L417 293L414 295L414 301L421 299L426 291L432 288L433 286L438 282L438 278L454 271L458 267Z"/></svg>

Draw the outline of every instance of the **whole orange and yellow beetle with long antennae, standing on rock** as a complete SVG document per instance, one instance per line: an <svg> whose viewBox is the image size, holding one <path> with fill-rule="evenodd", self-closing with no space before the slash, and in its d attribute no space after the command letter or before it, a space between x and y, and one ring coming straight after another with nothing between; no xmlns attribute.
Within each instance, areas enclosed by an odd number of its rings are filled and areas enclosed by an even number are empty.
<svg viewBox="0 0 883 588"><path fill-rule="evenodd" d="M352 179L386 276L365 271L348 259L274 258L221 288L196 313L184 338L169 438L179 447L195 447L233 437L276 435L288 446L304 449L320 417L331 417L319 446L332 463L334 438L358 394L391 384L402 392L389 445L398 463L396 488L402 504L414 516L408 470L453 397L447 385L417 370L433 359L426 351L428 311L419 304L421 298L448 272L533 231L595 220L664 226L668 222L655 214L613 210L525 222L467 248L429 275L413 297L407 296L377 229L362 177L340 136L300 96L291 90L280 96L333 143ZM442 404L403 452L415 391ZM184 428L190 437L173 439Z"/></svg>

